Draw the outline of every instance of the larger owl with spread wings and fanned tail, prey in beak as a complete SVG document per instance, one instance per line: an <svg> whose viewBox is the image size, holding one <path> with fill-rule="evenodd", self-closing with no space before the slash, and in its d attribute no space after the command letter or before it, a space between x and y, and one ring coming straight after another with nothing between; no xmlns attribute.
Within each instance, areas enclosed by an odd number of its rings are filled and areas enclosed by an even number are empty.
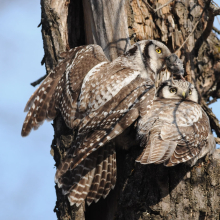
<svg viewBox="0 0 220 220"><path fill-rule="evenodd" d="M114 188L116 151L111 140L150 110L158 75L179 62L172 56L154 40L137 42L112 62L97 45L78 47L65 54L31 96L22 136L59 112L78 131L55 176L71 205L85 199L97 202Z"/></svg>

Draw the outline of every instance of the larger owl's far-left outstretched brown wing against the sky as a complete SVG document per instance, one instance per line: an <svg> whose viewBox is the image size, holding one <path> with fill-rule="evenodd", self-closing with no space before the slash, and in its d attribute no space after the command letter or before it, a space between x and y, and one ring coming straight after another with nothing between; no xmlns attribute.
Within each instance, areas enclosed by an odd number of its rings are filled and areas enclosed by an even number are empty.
<svg viewBox="0 0 220 220"><path fill-rule="evenodd" d="M25 111L29 111L22 136L37 129L45 119L51 120L61 112L68 127L73 128L77 99L85 75L101 62L109 62L98 45L80 46L61 54L63 60L48 74L30 97Z"/></svg>

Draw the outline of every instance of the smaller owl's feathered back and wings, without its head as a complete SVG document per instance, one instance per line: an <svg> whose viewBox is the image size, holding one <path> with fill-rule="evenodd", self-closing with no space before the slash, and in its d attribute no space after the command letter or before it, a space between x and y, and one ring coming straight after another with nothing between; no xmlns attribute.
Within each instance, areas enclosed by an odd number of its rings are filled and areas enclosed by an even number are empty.
<svg viewBox="0 0 220 220"><path fill-rule="evenodd" d="M187 101L172 102L154 102L158 117L151 121L146 148L137 162L174 166L192 160L202 149L210 147L209 119L201 106Z"/></svg>

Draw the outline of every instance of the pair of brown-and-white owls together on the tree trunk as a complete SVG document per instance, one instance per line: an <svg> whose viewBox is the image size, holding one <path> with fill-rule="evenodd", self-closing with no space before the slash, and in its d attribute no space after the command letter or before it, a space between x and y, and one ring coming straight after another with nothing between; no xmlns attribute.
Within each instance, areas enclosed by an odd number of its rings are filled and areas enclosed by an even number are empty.
<svg viewBox="0 0 220 220"><path fill-rule="evenodd" d="M182 79L181 61L164 44L140 41L112 62L97 45L76 47L63 56L29 99L22 136L59 112L69 128L78 130L55 176L71 205L97 202L114 188L111 140L126 135L135 122L144 147L137 158L142 164L193 165L215 149L198 93Z"/></svg>

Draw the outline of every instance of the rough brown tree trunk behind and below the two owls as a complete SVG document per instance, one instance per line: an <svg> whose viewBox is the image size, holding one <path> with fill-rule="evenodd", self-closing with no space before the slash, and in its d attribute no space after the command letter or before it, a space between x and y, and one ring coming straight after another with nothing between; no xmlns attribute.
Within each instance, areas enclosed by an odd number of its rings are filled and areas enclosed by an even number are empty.
<svg viewBox="0 0 220 220"><path fill-rule="evenodd" d="M42 63L49 72L57 65L61 52L83 44L100 45L113 60L136 41L162 41L184 61L185 77L196 84L211 126L220 136L219 122L207 107L210 97L220 98L220 42L212 32L219 11L210 2L41 0ZM54 131L51 152L57 165L74 131L66 127L61 116L54 120ZM219 219L218 150L192 168L185 164L172 168L136 164L141 150L136 146L117 151L116 187L105 200L89 207L70 206L56 186L54 211L58 219Z"/></svg>

